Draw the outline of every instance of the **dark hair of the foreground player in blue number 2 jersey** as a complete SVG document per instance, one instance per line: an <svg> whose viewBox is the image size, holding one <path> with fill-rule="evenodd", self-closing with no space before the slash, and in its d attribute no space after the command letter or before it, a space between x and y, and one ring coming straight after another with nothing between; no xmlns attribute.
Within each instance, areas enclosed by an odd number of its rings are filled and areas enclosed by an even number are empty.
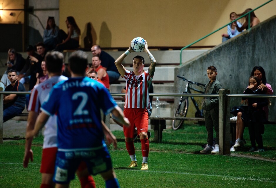
<svg viewBox="0 0 276 188"><path fill-rule="evenodd" d="M74 74L85 74L88 65L87 54L83 51L75 51L68 59L68 64Z"/></svg>

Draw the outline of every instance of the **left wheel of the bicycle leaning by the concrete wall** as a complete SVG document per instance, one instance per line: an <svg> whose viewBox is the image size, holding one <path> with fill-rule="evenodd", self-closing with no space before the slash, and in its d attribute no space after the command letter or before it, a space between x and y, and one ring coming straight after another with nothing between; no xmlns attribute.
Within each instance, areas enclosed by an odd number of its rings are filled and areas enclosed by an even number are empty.
<svg viewBox="0 0 276 188"><path fill-rule="evenodd" d="M186 117L188 111L188 98L184 98L178 105L173 117ZM184 120L173 120L173 130L177 130L183 124Z"/></svg>

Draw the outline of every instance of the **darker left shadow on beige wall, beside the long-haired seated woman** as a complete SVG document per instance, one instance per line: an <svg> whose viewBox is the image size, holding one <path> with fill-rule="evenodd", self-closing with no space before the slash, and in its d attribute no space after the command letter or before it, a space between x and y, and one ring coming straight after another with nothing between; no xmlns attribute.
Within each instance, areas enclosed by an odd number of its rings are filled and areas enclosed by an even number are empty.
<svg viewBox="0 0 276 188"><path fill-rule="evenodd" d="M84 33L86 34L84 35ZM81 40L83 40L84 48L91 48L94 44L96 44L97 35L91 22L88 22L85 25L84 32L81 35Z"/></svg>

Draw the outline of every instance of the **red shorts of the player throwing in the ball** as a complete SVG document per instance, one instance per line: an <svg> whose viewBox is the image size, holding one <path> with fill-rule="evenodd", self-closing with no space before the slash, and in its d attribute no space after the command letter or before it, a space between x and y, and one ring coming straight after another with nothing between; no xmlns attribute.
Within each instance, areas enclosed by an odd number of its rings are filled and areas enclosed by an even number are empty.
<svg viewBox="0 0 276 188"><path fill-rule="evenodd" d="M148 132L148 109L125 108L124 115L131 124L130 127L123 126L125 137L133 138L135 127L137 127L138 135L140 132Z"/></svg>

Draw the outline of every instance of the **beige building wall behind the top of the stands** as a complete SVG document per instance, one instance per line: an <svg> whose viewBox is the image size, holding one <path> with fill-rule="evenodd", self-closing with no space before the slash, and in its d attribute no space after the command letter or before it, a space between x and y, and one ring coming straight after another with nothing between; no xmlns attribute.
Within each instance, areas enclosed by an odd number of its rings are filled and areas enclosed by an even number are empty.
<svg viewBox="0 0 276 188"><path fill-rule="evenodd" d="M60 28L73 16L81 29L81 46L87 23L92 24L93 43L126 47L137 37L150 46L186 46L230 22L232 11L255 9L268 0L60 0ZM255 11L263 21L275 14L276 1ZM221 43L224 28L195 45Z"/></svg>

